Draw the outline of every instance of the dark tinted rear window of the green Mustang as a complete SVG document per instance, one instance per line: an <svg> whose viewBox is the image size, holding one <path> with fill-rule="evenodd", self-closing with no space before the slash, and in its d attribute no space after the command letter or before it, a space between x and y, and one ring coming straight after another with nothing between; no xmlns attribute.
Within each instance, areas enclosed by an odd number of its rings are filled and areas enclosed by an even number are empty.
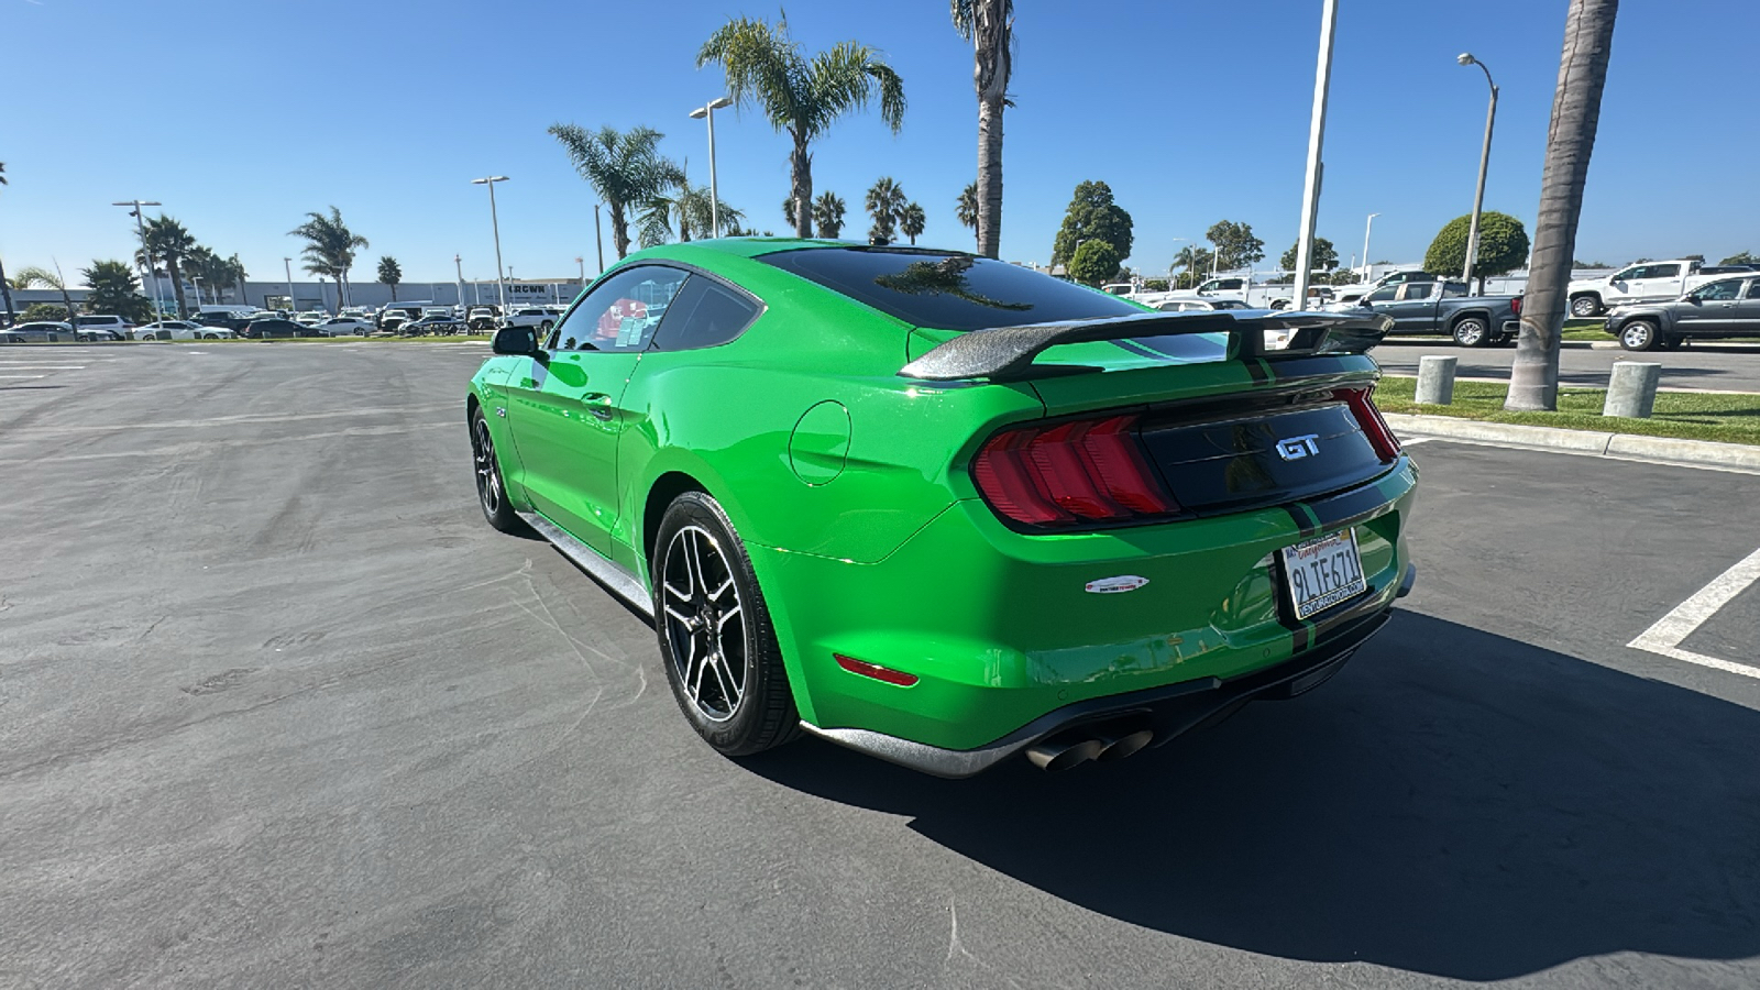
<svg viewBox="0 0 1760 990"><path fill-rule="evenodd" d="M973 257L912 248L801 248L760 255L912 326L989 329L1142 314L1142 308L1049 275Z"/></svg>

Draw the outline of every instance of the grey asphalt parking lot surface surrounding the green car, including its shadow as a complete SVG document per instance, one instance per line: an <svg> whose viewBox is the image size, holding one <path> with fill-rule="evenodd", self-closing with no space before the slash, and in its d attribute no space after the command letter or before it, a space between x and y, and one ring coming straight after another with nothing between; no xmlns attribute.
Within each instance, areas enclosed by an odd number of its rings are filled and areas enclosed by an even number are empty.
<svg viewBox="0 0 1760 990"><path fill-rule="evenodd" d="M1322 691L732 763L482 521L486 352L0 352L0 985L1760 983L1753 476L1417 437L1417 590Z"/></svg>

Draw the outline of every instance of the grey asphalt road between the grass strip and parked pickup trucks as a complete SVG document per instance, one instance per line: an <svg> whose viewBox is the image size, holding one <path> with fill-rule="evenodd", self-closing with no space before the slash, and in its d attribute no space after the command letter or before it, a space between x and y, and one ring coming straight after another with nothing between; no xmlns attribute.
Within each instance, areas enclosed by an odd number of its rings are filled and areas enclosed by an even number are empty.
<svg viewBox="0 0 1760 990"><path fill-rule="evenodd" d="M1515 347L1461 347L1443 338L1390 336L1373 354L1382 368L1394 375L1417 375L1419 358L1426 354L1452 354L1461 359L1456 375L1507 382ZM1607 388L1614 361L1661 365L1663 388L1760 393L1760 347L1746 344L1693 344L1681 351L1633 352L1566 342L1558 359L1559 382Z"/></svg>

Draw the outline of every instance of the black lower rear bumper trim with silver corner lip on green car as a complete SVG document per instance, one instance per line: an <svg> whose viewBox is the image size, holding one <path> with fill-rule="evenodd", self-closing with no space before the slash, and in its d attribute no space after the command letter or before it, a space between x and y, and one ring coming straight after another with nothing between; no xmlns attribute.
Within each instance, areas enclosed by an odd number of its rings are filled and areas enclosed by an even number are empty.
<svg viewBox="0 0 1760 990"><path fill-rule="evenodd" d="M1417 567L1406 565L1399 595L1412 590ZM1167 687L1133 691L1065 705L1033 719L1026 726L977 749L942 749L869 729L822 729L803 720L808 733L838 745L876 756L935 777L972 777L1024 750L1035 742L1089 722L1132 719L1149 728L1149 745L1163 745L1207 720L1225 715L1248 701L1285 699L1304 694L1334 673L1392 617L1392 608L1339 622L1324 638L1295 657L1236 678L1206 676Z"/></svg>

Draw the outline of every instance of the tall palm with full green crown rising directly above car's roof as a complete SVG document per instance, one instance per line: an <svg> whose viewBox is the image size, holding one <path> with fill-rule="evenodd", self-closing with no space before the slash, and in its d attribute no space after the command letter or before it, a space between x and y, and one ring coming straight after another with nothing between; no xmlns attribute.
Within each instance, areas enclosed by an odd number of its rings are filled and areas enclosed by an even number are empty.
<svg viewBox="0 0 1760 990"><path fill-rule="evenodd" d="M702 42L697 67L718 63L736 104L759 104L778 132L794 139L788 153L794 233L813 236L813 139L845 113L880 99L880 120L898 134L905 125L905 83L880 53L854 41L838 42L811 60L788 37L788 19L734 18Z"/></svg>

